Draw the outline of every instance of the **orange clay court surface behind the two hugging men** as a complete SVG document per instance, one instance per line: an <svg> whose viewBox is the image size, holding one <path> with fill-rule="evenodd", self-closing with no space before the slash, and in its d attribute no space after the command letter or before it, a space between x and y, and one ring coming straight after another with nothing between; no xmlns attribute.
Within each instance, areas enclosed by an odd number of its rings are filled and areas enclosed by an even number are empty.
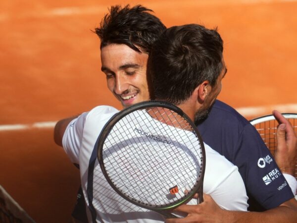
<svg viewBox="0 0 297 223"><path fill-rule="evenodd" d="M219 99L247 118L297 112L297 1L0 1L0 185L37 223L69 222L79 171L53 142L56 120L120 109L100 71L111 4L141 3L166 26L218 26L228 74Z"/></svg>

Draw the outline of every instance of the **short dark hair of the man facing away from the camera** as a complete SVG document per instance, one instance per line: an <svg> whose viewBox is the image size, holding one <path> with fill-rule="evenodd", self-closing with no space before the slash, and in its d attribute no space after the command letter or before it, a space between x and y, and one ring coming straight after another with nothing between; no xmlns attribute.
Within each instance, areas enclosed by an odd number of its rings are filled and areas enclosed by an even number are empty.
<svg viewBox="0 0 297 223"><path fill-rule="evenodd" d="M214 86L223 68L222 56L223 40L216 29L198 24L168 28L148 59L152 99L178 105L203 81Z"/></svg>

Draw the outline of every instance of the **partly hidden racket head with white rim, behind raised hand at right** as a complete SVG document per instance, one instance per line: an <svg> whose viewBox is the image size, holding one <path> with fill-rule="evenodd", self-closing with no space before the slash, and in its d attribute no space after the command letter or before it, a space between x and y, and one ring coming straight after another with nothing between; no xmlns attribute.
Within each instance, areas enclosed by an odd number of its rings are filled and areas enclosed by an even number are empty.
<svg viewBox="0 0 297 223"><path fill-rule="evenodd" d="M297 134L297 113L282 113L282 115L291 122L294 131ZM275 150L277 148L276 131L277 126L279 125L278 121L272 114L270 114L256 117L251 119L249 122L256 128L265 145L274 156ZM297 160L294 176L297 179Z"/></svg>

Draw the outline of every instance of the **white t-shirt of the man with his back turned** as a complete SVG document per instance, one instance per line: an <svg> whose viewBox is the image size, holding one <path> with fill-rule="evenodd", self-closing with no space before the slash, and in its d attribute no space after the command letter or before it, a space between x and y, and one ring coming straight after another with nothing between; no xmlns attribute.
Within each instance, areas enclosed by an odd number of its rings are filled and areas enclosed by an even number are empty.
<svg viewBox="0 0 297 223"><path fill-rule="evenodd" d="M81 182L87 206L89 163L98 136L105 123L118 110L99 106L72 120L63 136L63 148L73 163L80 165ZM247 194L238 168L204 144L206 167L203 192L210 194L223 209L247 211ZM97 155L97 154L96 154ZM103 176L96 159L93 178L93 201L97 222L164 222L164 217L140 208L118 195ZM90 185L89 185L90 186ZM188 204L196 204L192 199ZM87 208L89 221L91 212Z"/></svg>

